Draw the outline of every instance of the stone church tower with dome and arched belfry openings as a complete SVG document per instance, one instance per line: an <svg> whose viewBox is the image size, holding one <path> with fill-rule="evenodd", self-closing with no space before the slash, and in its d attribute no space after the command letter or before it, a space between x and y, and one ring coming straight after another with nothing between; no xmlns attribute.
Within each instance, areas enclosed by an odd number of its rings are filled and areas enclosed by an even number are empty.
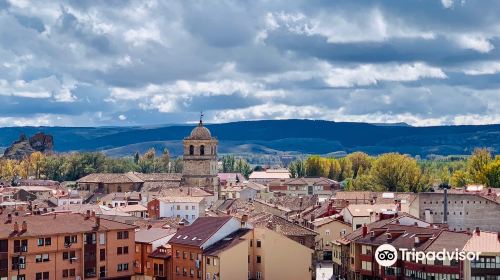
<svg viewBox="0 0 500 280"><path fill-rule="evenodd" d="M203 115L202 115L203 116ZM184 138L182 177L189 187L200 187L218 195L217 139L203 126L203 120Z"/></svg>

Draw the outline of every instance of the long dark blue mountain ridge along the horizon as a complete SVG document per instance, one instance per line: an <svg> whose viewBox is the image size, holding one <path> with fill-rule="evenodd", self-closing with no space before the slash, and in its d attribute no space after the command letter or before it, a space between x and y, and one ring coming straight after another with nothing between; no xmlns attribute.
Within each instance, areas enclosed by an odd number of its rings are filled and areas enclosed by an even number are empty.
<svg viewBox="0 0 500 280"><path fill-rule="evenodd" d="M500 124L413 127L407 124L368 124L322 120L264 120L207 124L220 141L222 153L290 152L328 154L397 151L413 155L469 154L475 147L500 151ZM153 127L7 127L0 128L0 146L7 147L21 133L44 132L54 136L54 149L105 151L130 155L148 146L165 147L177 155L181 140L193 126Z"/></svg>

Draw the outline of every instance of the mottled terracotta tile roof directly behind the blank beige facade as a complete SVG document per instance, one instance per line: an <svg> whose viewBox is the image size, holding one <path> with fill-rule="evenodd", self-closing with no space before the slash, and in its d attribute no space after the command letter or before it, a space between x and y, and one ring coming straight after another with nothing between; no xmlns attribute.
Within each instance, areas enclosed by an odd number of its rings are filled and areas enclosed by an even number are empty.
<svg viewBox="0 0 500 280"><path fill-rule="evenodd" d="M270 230L287 236L318 235L318 233L313 230L310 230L306 227L288 221L285 218L270 213L262 213L255 217L251 217L248 222L255 227L266 227Z"/></svg>

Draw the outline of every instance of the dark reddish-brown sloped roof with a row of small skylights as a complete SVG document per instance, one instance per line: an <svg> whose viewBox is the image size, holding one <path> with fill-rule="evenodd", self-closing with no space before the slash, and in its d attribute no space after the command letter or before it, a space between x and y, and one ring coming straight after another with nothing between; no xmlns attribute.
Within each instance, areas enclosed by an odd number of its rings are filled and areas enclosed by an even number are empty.
<svg viewBox="0 0 500 280"><path fill-rule="evenodd" d="M200 217L191 225L180 228L169 243L201 247L231 219L233 219L231 216Z"/></svg>

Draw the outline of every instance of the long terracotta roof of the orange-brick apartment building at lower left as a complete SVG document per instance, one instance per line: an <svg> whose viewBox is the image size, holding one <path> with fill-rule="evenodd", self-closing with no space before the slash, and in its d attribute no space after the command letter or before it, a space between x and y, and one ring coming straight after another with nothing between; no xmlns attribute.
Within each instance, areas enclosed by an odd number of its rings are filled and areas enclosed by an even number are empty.
<svg viewBox="0 0 500 280"><path fill-rule="evenodd" d="M14 222L18 223L21 229L22 223L27 222L27 231L14 233ZM4 221L5 223L5 221ZM4 224L0 227L0 238L9 238L13 236L31 237L55 234L71 234L93 231L96 218L85 218L81 214L60 213L49 215L30 215L30 216L12 216L12 223ZM100 229L120 230L134 229L135 226L100 219Z"/></svg>

